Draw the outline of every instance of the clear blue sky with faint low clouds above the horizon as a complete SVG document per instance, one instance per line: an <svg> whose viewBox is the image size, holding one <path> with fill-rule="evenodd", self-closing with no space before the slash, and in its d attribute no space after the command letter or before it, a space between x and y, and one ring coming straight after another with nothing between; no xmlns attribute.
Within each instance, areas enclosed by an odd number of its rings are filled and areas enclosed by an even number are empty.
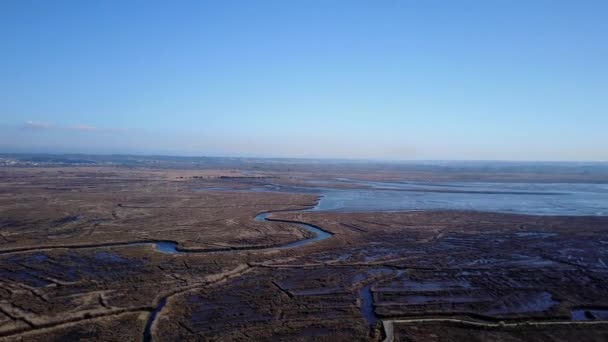
<svg viewBox="0 0 608 342"><path fill-rule="evenodd" d="M608 1L0 1L0 151L608 160Z"/></svg>

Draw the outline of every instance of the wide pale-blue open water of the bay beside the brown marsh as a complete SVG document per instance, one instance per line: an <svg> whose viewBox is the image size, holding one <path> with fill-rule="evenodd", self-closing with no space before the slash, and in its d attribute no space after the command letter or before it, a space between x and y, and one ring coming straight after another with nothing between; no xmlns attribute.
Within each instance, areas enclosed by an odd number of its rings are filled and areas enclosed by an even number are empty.
<svg viewBox="0 0 608 342"><path fill-rule="evenodd" d="M332 189L327 184L313 188L323 196L314 211L446 209L532 215L608 215L606 184L339 181L361 188Z"/></svg>

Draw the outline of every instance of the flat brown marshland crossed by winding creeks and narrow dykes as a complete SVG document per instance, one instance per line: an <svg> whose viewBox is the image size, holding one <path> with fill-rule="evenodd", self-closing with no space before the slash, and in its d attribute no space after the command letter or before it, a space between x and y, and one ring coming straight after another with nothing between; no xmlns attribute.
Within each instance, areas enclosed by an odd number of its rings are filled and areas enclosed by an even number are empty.
<svg viewBox="0 0 608 342"><path fill-rule="evenodd" d="M308 168L0 168L0 340L606 340L607 217L306 211Z"/></svg>

